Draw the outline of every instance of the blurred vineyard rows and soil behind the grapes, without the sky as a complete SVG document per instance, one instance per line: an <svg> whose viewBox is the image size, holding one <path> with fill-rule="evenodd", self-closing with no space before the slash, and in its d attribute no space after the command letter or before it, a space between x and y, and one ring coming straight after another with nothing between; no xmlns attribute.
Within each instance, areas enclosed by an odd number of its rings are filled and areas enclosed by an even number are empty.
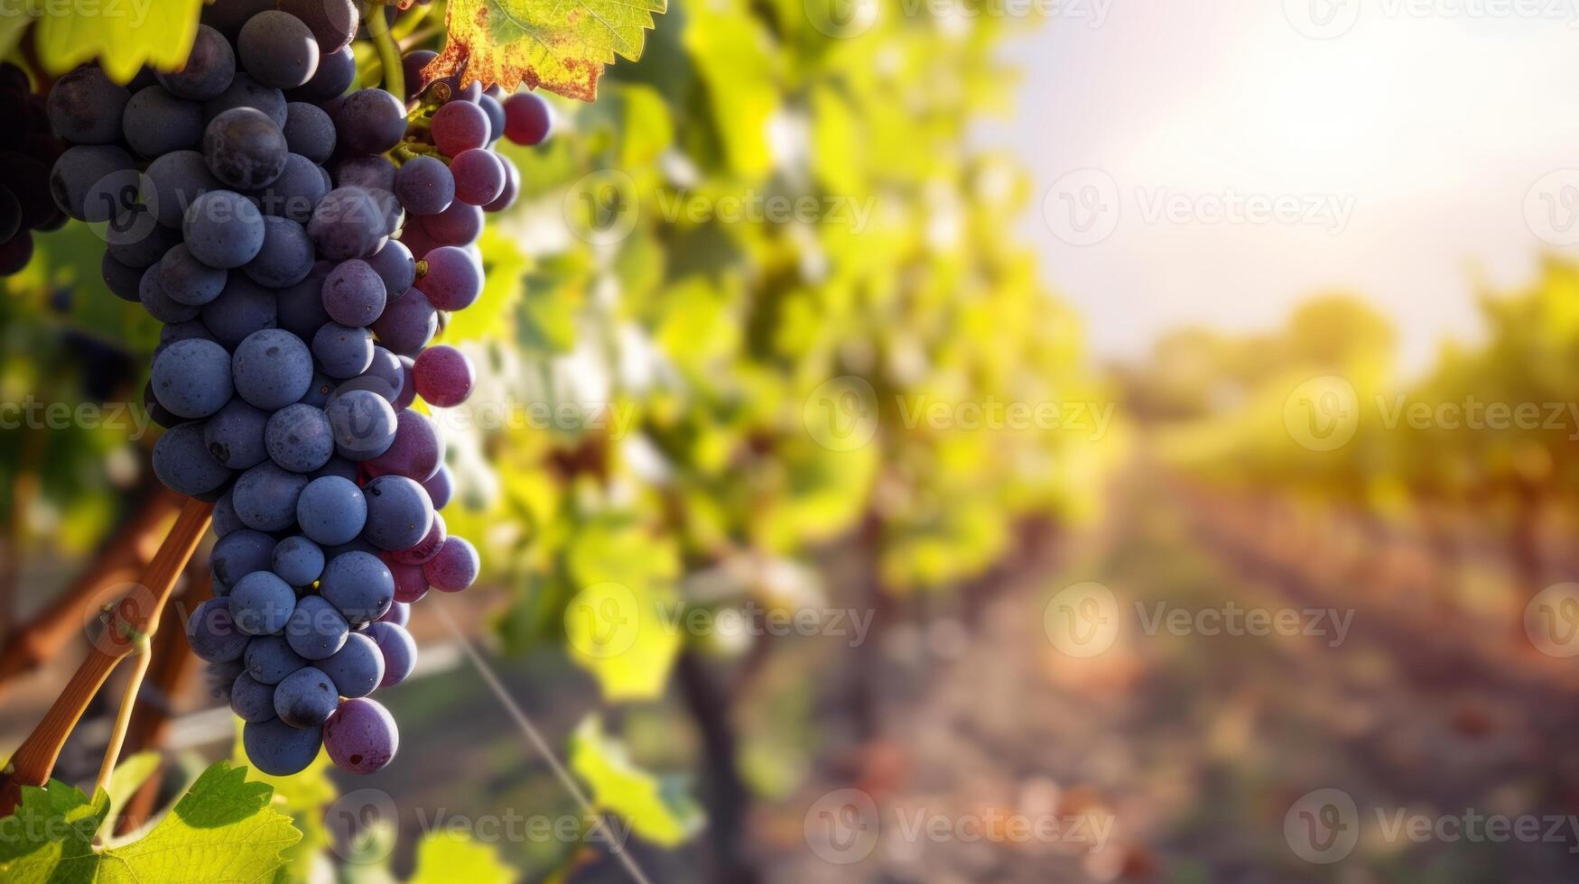
<svg viewBox="0 0 1579 884"><path fill-rule="evenodd" d="M1104 365L1015 235L1041 194L971 137L1011 110L1017 25L917 11L845 38L807 9L679 3L595 104L556 101L548 145L502 148L524 196L442 330L482 382L437 415L485 579L414 616L393 766L278 783L306 832L287 875L458 879L434 821L515 813L583 826L463 824L488 848L467 879L627 879L482 666L655 881L1571 879L1579 833L1415 843L1367 816L1322 865L1285 813L1322 788L1576 811L1579 595L1541 594L1579 573L1579 267L1484 292L1483 339L1423 376L1363 292ZM39 237L0 298L0 401L46 423L0 431L0 748L174 518L136 417L156 327L103 289L93 237ZM128 409L81 418L98 403ZM1465 403L1540 420L1440 418ZM987 404L1056 420L962 420ZM177 609L207 592L189 578ZM1060 612L1093 581L1118 635L1088 654ZM1157 603L1347 617L1142 635ZM234 751L177 624L128 744L167 761L134 818ZM112 714L57 777L92 777ZM843 789L883 818L848 863L808 829ZM892 808L1104 837L905 838Z"/></svg>

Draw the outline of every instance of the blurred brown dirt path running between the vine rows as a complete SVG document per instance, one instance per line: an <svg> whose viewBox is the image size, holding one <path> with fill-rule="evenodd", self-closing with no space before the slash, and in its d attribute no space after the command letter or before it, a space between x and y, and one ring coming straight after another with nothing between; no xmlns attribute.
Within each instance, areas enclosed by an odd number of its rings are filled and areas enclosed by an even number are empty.
<svg viewBox="0 0 1579 884"><path fill-rule="evenodd" d="M1571 753L1551 731L1573 715L1473 671L1427 685L1442 649L1292 595L1156 489L1135 483L1083 556L998 595L932 660L930 690L889 672L919 699L889 709L857 778L772 808L772 830L808 835L774 881L1579 878L1574 797L1554 788ZM1082 581L1116 622L1090 655L1044 620ZM1235 608L1288 611L1301 635L1208 635ZM1524 832L1486 837L1495 815Z"/></svg>

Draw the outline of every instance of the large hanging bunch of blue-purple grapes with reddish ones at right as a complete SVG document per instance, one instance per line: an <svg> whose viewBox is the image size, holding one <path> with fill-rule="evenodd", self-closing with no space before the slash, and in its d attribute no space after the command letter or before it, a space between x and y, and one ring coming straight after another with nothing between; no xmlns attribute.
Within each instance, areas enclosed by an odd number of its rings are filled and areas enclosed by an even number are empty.
<svg viewBox="0 0 1579 884"><path fill-rule="evenodd" d="M106 284L164 324L153 470L215 504L218 537L186 633L275 775L319 747L388 764L398 731L369 695L415 665L411 605L477 576L437 511L442 437L411 406L471 395L466 355L429 343L482 294L485 213L516 199L493 145L549 128L538 96L475 82L354 90L358 25L349 0L221 0L180 71L122 87L84 66L47 101L71 145L54 204L104 226ZM429 58L406 57L411 82Z"/></svg>

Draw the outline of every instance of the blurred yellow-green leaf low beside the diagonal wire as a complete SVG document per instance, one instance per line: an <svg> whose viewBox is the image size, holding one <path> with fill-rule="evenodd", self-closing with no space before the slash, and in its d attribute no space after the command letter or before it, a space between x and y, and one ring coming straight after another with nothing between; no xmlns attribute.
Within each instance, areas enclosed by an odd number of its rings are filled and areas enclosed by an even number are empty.
<svg viewBox="0 0 1579 884"><path fill-rule="evenodd" d="M679 781L636 767L625 745L603 732L597 715L570 736L570 769L587 785L598 811L654 845L674 848L703 827L701 808Z"/></svg>

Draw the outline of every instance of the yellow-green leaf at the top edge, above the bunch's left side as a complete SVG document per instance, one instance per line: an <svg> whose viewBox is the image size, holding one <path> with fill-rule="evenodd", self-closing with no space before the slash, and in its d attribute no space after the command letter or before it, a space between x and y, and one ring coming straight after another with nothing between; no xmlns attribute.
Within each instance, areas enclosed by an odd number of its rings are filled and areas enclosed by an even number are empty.
<svg viewBox="0 0 1579 884"><path fill-rule="evenodd" d="M98 58L115 82L129 82L152 65L174 71L186 63L197 36L202 0L103 0L51 3L32 0L38 17L38 57L52 73Z"/></svg>

